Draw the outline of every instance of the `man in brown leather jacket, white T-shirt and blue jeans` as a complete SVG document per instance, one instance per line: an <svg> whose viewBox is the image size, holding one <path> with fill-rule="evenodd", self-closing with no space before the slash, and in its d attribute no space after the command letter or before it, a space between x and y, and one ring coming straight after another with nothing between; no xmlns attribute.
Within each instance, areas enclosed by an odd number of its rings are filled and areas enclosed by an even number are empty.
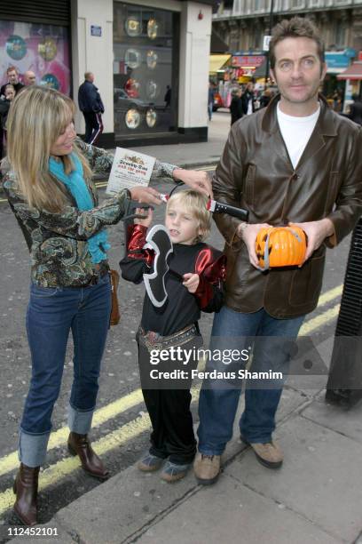
<svg viewBox="0 0 362 544"><path fill-rule="evenodd" d="M224 339L227 348L239 342L247 350L254 337L256 371L287 369L290 351L283 338L295 339L304 316L317 306L325 246L338 244L362 212L361 127L335 114L319 97L327 68L311 21L281 21L273 30L270 60L280 94L267 108L232 125L213 179L216 200L248 208L249 223L216 215L228 268L225 306L214 318L212 336L216 347ZM262 272L257 232L288 222L308 236L303 266ZM271 388L263 388L262 380L247 383L240 420L242 439L267 468L279 468L283 461L271 437L282 381L272 381ZM194 462L201 484L216 481L220 456L232 438L240 387L226 385L207 388L204 383L201 390Z"/></svg>

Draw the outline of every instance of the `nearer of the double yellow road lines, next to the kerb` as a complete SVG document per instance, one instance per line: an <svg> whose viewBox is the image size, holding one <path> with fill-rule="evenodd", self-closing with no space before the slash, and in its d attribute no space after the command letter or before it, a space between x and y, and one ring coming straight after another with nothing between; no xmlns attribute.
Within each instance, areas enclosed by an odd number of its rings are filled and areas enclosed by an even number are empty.
<svg viewBox="0 0 362 544"><path fill-rule="evenodd" d="M199 397L199 388L192 388L193 402ZM139 416L136 420L132 420L122 427L117 428L112 433L100 438L97 442L92 443L92 447L98 455L104 455L117 447L127 444L133 438L136 438L141 433L151 428L151 421L147 413ZM49 468L45 468L41 472L39 478L39 490L51 486L60 478L70 475L72 472L80 468L80 462L78 457L66 457L59 460ZM14 503L14 494L12 488L6 489L0 493L0 516L4 514L6 510L12 508Z"/></svg>

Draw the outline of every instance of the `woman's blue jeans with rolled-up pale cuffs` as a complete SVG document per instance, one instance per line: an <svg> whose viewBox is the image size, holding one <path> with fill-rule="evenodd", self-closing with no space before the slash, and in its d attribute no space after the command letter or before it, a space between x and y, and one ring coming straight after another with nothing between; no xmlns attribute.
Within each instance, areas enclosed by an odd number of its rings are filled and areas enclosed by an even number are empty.
<svg viewBox="0 0 362 544"><path fill-rule="evenodd" d="M45 458L70 331L74 340L74 380L69 426L79 434L90 430L110 312L107 274L98 284L87 287L44 288L31 284L27 332L32 376L20 423L20 460L29 467L40 466Z"/></svg>

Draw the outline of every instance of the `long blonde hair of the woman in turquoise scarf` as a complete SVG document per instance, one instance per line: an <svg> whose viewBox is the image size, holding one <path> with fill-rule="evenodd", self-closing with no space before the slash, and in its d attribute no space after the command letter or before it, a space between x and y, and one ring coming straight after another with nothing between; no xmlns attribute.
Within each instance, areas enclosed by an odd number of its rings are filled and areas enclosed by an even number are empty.
<svg viewBox="0 0 362 544"><path fill-rule="evenodd" d="M7 159L18 181L20 195L31 207L61 212L67 193L49 172L51 147L75 115L73 100L47 87L21 90L12 101L7 118ZM84 178L91 178L88 161L74 145L83 165ZM74 170L70 156L62 156L66 173Z"/></svg>

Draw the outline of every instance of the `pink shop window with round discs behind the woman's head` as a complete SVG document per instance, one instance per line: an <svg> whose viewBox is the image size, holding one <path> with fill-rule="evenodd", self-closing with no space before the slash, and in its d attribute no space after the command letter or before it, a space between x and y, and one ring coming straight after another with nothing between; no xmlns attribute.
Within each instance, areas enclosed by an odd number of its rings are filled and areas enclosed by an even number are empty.
<svg viewBox="0 0 362 544"><path fill-rule="evenodd" d="M36 84L70 93L69 37L66 27L0 20L0 83L6 69L35 72Z"/></svg>

